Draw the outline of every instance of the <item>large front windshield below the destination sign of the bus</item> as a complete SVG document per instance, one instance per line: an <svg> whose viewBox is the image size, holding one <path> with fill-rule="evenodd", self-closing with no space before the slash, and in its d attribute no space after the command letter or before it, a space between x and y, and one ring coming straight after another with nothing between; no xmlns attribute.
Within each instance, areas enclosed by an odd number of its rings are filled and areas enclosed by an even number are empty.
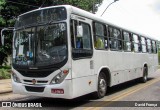
<svg viewBox="0 0 160 110"><path fill-rule="evenodd" d="M59 22L15 31L13 64L44 67L63 62L67 58L66 28L65 22Z"/></svg>

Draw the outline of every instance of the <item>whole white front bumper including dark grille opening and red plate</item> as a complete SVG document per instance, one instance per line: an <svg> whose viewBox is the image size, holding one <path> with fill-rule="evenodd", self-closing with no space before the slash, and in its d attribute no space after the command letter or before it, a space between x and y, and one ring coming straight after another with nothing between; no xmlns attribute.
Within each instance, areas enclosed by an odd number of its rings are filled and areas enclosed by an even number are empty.
<svg viewBox="0 0 160 110"><path fill-rule="evenodd" d="M28 85L14 82L12 89L15 94L72 99L72 81L64 80L61 84Z"/></svg>

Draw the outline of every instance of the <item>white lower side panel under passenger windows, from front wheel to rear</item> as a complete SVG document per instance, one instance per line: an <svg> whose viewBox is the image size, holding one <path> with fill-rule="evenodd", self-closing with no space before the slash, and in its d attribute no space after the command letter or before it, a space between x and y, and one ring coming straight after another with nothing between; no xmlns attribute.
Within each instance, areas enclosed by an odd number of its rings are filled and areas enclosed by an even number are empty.
<svg viewBox="0 0 160 110"><path fill-rule="evenodd" d="M148 66L148 74L157 70L157 54L102 50L95 50L94 53L95 74L100 73L103 66L108 67L111 74L110 86L142 77L145 62Z"/></svg>

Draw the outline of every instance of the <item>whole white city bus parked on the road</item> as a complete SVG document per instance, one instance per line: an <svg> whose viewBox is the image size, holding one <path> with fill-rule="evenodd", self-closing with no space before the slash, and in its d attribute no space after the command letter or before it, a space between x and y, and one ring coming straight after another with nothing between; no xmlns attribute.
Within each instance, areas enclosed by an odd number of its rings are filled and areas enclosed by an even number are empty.
<svg viewBox="0 0 160 110"><path fill-rule="evenodd" d="M107 20L107 18L106 18ZM63 5L20 15L13 36L13 92L73 99L147 76L157 41L79 8Z"/></svg>

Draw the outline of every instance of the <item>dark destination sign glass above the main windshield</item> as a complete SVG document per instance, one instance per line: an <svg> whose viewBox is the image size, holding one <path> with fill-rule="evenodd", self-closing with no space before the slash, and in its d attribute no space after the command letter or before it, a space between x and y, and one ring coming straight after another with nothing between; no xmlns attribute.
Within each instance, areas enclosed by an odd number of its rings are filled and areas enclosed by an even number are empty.
<svg viewBox="0 0 160 110"><path fill-rule="evenodd" d="M40 9L19 16L15 24L15 29L66 19L67 12L64 7Z"/></svg>

